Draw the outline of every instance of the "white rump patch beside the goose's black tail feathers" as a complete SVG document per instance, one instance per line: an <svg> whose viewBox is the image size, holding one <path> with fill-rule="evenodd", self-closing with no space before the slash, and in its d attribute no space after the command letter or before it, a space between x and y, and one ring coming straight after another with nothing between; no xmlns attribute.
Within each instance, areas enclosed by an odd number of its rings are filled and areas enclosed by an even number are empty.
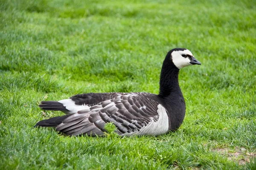
<svg viewBox="0 0 256 170"><path fill-rule="evenodd" d="M67 112L68 114L77 113L78 111L87 110L90 108L87 105L76 105L75 102L71 99L63 99L58 102L63 104L66 107L66 109L69 110L69 112Z"/></svg>

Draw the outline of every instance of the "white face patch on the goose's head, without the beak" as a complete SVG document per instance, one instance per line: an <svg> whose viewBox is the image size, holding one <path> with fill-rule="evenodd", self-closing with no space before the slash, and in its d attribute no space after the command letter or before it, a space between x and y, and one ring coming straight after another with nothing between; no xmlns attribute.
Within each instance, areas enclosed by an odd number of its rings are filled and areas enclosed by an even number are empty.
<svg viewBox="0 0 256 170"><path fill-rule="evenodd" d="M193 56L193 54L189 51L189 50L184 50L184 51L173 51L172 52L172 62L175 64L175 66L177 68L183 68L186 67L188 65L192 65L190 63L190 59L189 57L182 57L182 54L189 54L191 56Z"/></svg>

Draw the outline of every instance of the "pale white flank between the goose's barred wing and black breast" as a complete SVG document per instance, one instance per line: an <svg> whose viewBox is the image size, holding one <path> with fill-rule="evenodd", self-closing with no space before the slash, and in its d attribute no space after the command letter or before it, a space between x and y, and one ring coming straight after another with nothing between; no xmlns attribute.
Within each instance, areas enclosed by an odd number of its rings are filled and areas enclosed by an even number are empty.
<svg viewBox="0 0 256 170"><path fill-rule="evenodd" d="M133 133L124 133L122 136L131 136L131 135L160 135L166 133L169 129L169 118L166 113L166 109L159 104L157 106L157 113L159 114L159 119L157 122L154 122L152 119L145 127L142 127L139 132Z"/></svg>

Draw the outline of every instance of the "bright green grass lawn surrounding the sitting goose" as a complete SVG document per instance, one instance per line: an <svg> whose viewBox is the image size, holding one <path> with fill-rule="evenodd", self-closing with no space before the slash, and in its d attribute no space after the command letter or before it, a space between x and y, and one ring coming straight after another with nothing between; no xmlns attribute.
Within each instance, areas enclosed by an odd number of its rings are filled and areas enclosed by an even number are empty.
<svg viewBox="0 0 256 170"><path fill-rule="evenodd" d="M161 136L68 137L36 122L42 100L88 92L158 93L166 53L186 116ZM0 2L0 169L256 169L253 0Z"/></svg>

